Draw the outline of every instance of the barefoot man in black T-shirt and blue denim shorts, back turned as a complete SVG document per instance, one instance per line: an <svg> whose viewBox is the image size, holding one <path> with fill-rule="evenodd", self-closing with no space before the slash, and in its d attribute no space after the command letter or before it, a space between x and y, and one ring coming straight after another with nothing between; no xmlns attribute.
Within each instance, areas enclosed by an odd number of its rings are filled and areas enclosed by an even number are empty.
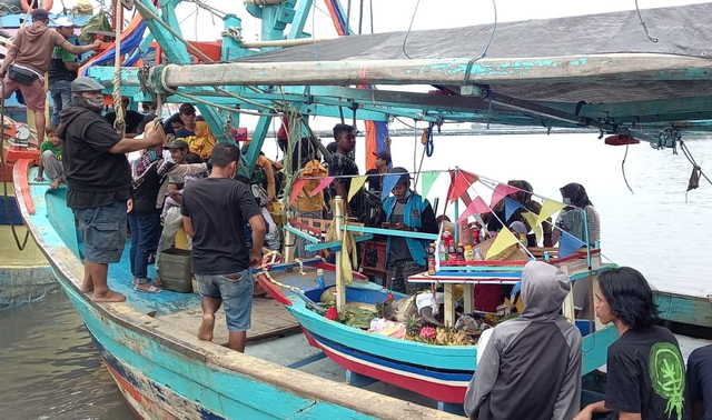
<svg viewBox="0 0 712 420"><path fill-rule="evenodd" d="M212 340L215 312L225 304L228 347L245 352L253 311L250 267L259 266L265 219L249 186L235 179L240 150L218 143L210 157L212 172L182 192L182 226L192 238L192 271L202 297L198 339ZM245 241L245 223L253 228L253 248Z"/></svg>

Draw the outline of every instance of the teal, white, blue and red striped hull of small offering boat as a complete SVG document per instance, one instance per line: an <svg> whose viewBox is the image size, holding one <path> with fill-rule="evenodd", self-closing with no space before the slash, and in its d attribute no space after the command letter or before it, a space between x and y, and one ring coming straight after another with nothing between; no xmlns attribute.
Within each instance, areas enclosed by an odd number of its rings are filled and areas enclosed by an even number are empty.
<svg viewBox="0 0 712 420"><path fill-rule="evenodd" d="M378 288L374 283L348 288L346 297L350 300L349 294L373 294ZM476 346L432 346L369 333L310 311L299 298L290 300L286 308L301 326L309 343L343 368L438 402L463 403L476 369ZM614 328L583 338L582 374L605 364L607 348L616 339Z"/></svg>

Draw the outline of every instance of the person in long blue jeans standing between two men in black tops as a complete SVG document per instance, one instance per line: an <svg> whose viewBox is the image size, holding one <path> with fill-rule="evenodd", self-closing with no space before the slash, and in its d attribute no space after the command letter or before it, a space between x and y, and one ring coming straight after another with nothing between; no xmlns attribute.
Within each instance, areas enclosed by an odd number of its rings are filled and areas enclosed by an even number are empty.
<svg viewBox="0 0 712 420"><path fill-rule="evenodd" d="M151 123L146 126L147 132L156 129L162 132L160 124ZM131 258L131 274L134 274L134 290L138 292L160 292L160 289L151 284L148 277L148 260L156 250L161 237L160 212L164 207L162 199L165 194L159 194L159 192L164 183L170 176L198 174L208 170L205 163L180 164L185 162L185 154L181 151L172 152L171 150L171 158L175 154L179 158L178 160L181 160L180 162L164 160L161 147L162 143L147 148L131 168L131 173L134 174L134 202L129 209L129 227L131 228L129 256ZM187 144L185 141L174 140L168 148L170 147L174 150L181 150Z"/></svg>

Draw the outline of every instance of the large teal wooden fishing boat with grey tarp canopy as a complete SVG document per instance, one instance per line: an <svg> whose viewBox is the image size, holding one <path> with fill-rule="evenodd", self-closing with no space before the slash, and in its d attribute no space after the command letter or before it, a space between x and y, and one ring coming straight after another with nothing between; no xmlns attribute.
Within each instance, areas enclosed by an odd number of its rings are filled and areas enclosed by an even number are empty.
<svg viewBox="0 0 712 420"><path fill-rule="evenodd" d="M288 116L291 121L289 144L309 132L310 116L373 121L368 124L373 151L384 147L383 129L393 117L426 121L431 131L447 120L585 128L610 133L606 141L612 144L645 140L660 149L681 144L686 130L712 128L706 58L712 34L701 19L709 13L709 4L647 10L647 26L659 31L655 43L641 34L635 11L629 11L500 24L492 48L485 47L492 38L490 26L413 31L407 37L409 57L402 49L406 33L354 36L338 1L328 4L339 34L348 38L308 39L304 28L312 1L250 2L248 11L264 22L263 40L246 42L239 36L239 19L224 16L216 59L182 39L172 3L161 3L159 11L154 1L136 0L135 20L149 29L148 38L159 43L159 57L167 61L145 69L96 66L87 71L137 100L195 102L218 141L234 141L230 129L239 126L240 112L260 113L247 164L240 167L247 178L275 116ZM116 8L118 12L120 6ZM289 39L283 40L287 24ZM137 28L138 23L131 27L132 34ZM682 42L681 37L688 39ZM128 38L115 43L117 56L128 57L139 49L131 49ZM422 84L437 92L362 89L366 84ZM22 217L139 417L446 419L451 414L431 407L439 401L441 408L452 409L446 404L462 401L464 384L476 368L476 346L396 341L328 321L305 302L315 301L332 286L332 274L325 276L324 287L318 286L312 278L316 268L290 261L289 252L285 252L286 266L267 272L285 288L276 287L267 273L259 279L298 320L306 340L290 336L265 344L253 341L247 354L219 346L225 342L220 338L199 341L195 337L199 298L170 291L130 292L127 258L111 266L109 284L127 292L129 300L92 302L78 289L82 244L66 206L66 190L50 190L33 179L29 162L16 166ZM379 233L378 229L370 232ZM295 274L297 268L306 276ZM333 276L340 303L373 304L387 297L380 286L358 276L353 287L346 287L339 270ZM589 270L584 270L586 277ZM709 334L712 306L708 298L657 292L656 299L661 308L666 304L666 320L696 327L684 332ZM248 332L254 339L287 334L297 327L273 301L256 302L255 308L260 326ZM585 356L583 373L605 362L613 332L599 328L586 337L594 351ZM307 340L336 362L322 359ZM684 339L683 351L704 343ZM354 386L366 389L344 384L347 374ZM365 378L380 382L368 383Z"/></svg>

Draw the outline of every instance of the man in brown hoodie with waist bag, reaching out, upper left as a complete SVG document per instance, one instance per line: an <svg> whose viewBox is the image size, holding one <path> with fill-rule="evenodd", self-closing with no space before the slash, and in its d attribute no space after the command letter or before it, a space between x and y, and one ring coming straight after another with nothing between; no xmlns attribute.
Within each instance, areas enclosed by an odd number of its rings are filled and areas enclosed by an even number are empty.
<svg viewBox="0 0 712 420"><path fill-rule="evenodd" d="M0 76L4 78L4 99L19 90L27 108L34 113L39 142L44 141L44 73L49 70L52 49L60 47L72 54L83 54L99 48L100 41L88 46L72 46L57 31L49 30L49 14L44 9L32 10L32 24L20 28L8 51Z"/></svg>

